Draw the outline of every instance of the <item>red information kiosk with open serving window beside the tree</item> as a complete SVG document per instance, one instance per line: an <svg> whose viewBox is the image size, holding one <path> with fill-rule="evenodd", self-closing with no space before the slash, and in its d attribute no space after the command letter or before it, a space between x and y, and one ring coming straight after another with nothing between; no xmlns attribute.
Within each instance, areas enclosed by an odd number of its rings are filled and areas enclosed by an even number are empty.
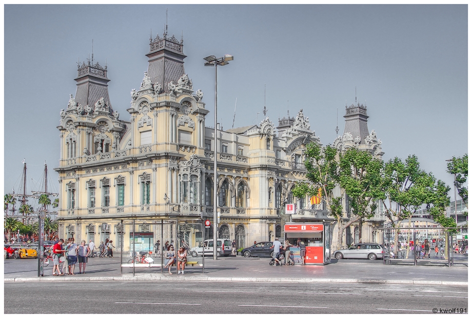
<svg viewBox="0 0 472 318"><path fill-rule="evenodd" d="M298 238L305 242L305 264L325 265L330 263L331 233L329 223L285 223L285 239L297 245ZM290 248L297 250L298 248ZM300 254L299 254L300 255ZM301 258L296 264L301 264Z"/></svg>

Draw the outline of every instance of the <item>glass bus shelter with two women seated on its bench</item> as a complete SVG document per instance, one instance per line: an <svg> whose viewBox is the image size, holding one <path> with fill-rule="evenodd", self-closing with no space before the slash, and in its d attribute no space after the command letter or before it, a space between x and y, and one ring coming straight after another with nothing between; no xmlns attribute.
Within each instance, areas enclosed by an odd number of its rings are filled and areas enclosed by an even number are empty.
<svg viewBox="0 0 472 318"><path fill-rule="evenodd" d="M120 220L120 242L116 246L121 251L121 273L124 269L132 269L133 276L136 268L157 269L164 272L166 241L173 245L177 253L180 247L187 250L187 265L202 267L205 271L205 258L191 257L190 248L199 246L204 240L205 226L201 218L127 218ZM154 245L160 241L160 251L155 252ZM191 258L189 258L191 257ZM176 261L173 266L177 266ZM140 270L140 272L142 272ZM156 271L152 271L156 272ZM179 271L176 271L179 275Z"/></svg>

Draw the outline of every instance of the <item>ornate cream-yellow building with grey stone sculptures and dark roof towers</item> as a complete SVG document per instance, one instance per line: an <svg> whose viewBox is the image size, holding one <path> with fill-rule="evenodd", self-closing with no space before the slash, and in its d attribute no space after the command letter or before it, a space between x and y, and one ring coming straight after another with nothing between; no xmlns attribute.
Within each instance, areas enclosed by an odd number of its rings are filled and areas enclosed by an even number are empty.
<svg viewBox="0 0 472 318"><path fill-rule="evenodd" d="M61 110L57 126L62 237L93 239L97 245L110 238L120 250L123 234L127 251L136 231L150 247L156 239L173 239L172 227L166 224L161 230L161 220L212 220L214 195L221 215L219 235L237 239L239 247L280 237L284 202L298 203L293 221L329 219L323 204L312 207L308 198L293 198L290 191L295 182L305 180L304 145L320 144L303 110L297 117L279 119L277 128L265 118L257 125L218 130L215 143L214 130L205 123L209 110L203 92L194 91L184 70L183 41L158 35L150 40L146 57L149 65L141 85L131 90L129 120L112 109L107 67L78 65L75 97ZM360 138L360 146L381 155L375 133L366 133L365 107L346 111L346 130L336 146L359 146ZM356 122L365 125L352 139L355 129L348 127ZM136 229L122 228L121 220L130 219L137 220ZM212 237L212 229L186 229L191 246Z"/></svg>

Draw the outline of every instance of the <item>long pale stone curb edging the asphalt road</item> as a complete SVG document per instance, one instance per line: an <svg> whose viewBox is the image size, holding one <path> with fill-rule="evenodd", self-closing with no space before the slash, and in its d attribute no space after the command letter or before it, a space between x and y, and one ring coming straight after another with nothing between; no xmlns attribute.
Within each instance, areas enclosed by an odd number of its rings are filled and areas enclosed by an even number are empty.
<svg viewBox="0 0 472 318"><path fill-rule="evenodd" d="M4 283L32 282L111 282L111 281L170 281L191 280L193 282L264 282L264 283L348 283L348 284L399 284L399 285L442 285L468 286L468 282L443 282L438 280L394 280L394 279L342 279L342 278L265 278L265 277L208 277L208 276L117 276L117 277L29 277L4 278Z"/></svg>

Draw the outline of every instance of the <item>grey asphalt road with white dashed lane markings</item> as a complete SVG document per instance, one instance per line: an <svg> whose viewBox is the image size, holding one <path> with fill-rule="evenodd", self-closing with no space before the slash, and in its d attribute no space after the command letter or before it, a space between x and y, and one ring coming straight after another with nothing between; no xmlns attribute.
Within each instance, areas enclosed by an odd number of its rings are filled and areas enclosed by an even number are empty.
<svg viewBox="0 0 472 318"><path fill-rule="evenodd" d="M18 296L21 295L21 296ZM5 283L6 314L319 314L466 310L467 287L208 282ZM27 300L27 301L26 301Z"/></svg>

